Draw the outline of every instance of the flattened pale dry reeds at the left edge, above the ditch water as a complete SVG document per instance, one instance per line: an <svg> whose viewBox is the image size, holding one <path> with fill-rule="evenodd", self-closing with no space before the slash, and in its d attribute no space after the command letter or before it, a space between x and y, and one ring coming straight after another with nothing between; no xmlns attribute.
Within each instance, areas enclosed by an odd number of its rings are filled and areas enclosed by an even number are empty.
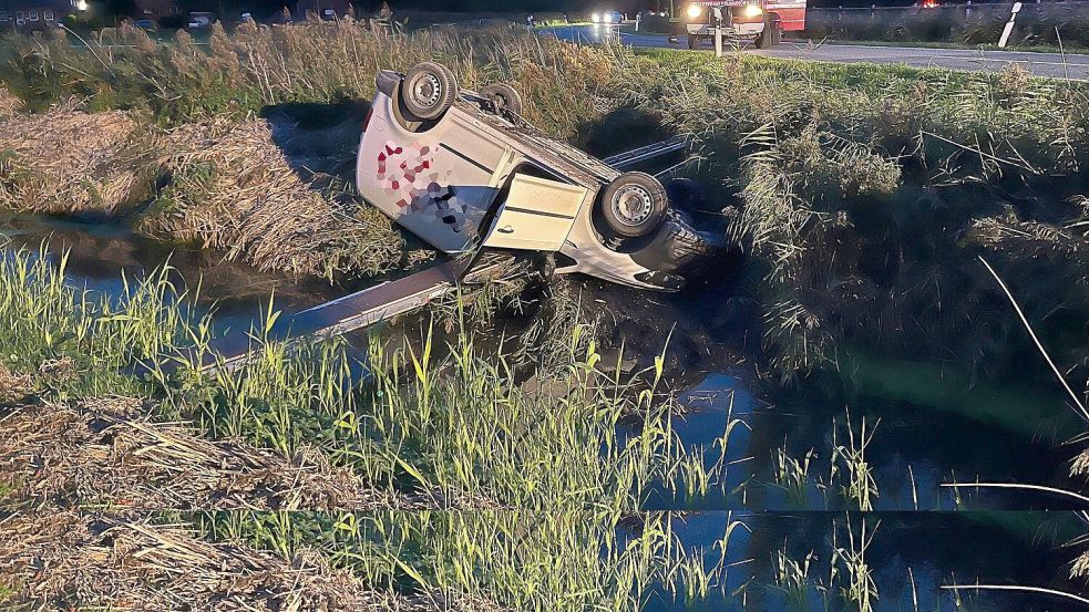
<svg viewBox="0 0 1089 612"><path fill-rule="evenodd" d="M0 207L121 212L150 191L142 142L137 122L123 111L86 113L69 102L14 115L0 126Z"/></svg>

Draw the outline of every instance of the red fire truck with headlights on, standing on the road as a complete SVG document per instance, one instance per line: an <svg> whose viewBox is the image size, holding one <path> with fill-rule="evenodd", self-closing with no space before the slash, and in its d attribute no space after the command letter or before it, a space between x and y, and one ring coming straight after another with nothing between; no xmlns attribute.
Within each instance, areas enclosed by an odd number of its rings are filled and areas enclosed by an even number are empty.
<svg viewBox="0 0 1089 612"><path fill-rule="evenodd" d="M783 32L805 29L805 0L697 0L685 9L688 48L722 30L733 43L751 42L764 49L778 44Z"/></svg>

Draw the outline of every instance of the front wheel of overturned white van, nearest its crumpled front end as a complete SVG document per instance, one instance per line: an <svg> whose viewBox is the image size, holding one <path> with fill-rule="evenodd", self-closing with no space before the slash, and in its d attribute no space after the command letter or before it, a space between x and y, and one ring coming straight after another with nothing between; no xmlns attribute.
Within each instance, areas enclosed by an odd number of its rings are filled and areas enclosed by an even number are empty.
<svg viewBox="0 0 1089 612"><path fill-rule="evenodd" d="M602 194L600 211L609 229L627 238L658 229L666 216L666 188L644 173L624 173Z"/></svg>

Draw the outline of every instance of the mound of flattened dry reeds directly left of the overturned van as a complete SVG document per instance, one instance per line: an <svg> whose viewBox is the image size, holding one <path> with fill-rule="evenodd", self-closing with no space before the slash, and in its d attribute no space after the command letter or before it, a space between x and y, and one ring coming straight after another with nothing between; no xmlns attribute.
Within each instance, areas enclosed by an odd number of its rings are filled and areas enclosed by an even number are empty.
<svg viewBox="0 0 1089 612"><path fill-rule="evenodd" d="M376 208L292 167L263 120L212 121L162 138L172 178L140 231L197 242L261 270L332 278L398 264L403 241Z"/></svg>

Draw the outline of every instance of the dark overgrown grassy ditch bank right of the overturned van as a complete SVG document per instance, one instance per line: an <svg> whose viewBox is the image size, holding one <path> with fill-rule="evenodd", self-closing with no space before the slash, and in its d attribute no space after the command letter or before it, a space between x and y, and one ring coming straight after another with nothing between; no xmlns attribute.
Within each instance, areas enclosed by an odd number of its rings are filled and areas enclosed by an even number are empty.
<svg viewBox="0 0 1089 612"><path fill-rule="evenodd" d="M1072 435L1069 398L979 258L1085 403L1089 345L1072 330L1089 317L1089 87L1013 69L637 61L635 98L692 134L706 154L694 176L727 189L731 236L753 256L737 293L751 301L718 315L752 321L772 373L935 411L992 381L1035 388L1030 405L970 417L1016 431L1034 427L1028 411L1038 431ZM928 382L901 380L916 366ZM1080 465L1058 486L1082 488Z"/></svg>

